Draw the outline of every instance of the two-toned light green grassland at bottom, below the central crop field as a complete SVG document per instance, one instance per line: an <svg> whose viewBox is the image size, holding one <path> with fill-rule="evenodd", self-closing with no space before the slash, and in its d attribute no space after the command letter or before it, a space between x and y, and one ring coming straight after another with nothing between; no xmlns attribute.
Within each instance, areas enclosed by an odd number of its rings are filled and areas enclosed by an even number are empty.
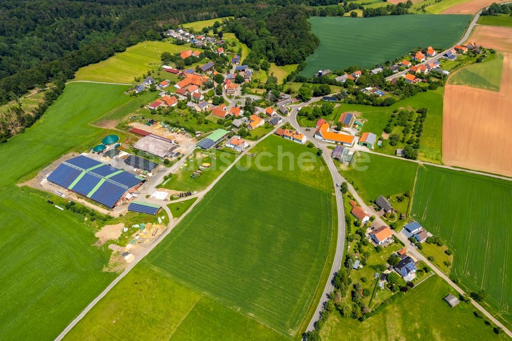
<svg viewBox="0 0 512 341"><path fill-rule="evenodd" d="M133 328L135 321L137 328ZM100 338L285 339L254 319L142 265L130 271L66 336L70 340Z"/></svg>

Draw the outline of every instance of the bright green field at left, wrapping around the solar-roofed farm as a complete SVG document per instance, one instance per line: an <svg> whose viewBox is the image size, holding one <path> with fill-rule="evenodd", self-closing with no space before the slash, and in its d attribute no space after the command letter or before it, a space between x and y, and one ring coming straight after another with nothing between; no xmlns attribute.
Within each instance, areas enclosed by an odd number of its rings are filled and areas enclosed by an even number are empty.
<svg viewBox="0 0 512 341"><path fill-rule="evenodd" d="M54 338L115 276L101 271L110 251L92 246L94 230L83 217L15 184L98 139L104 131L88 123L131 100L126 88L68 84L41 119L0 145L0 334L6 339Z"/></svg>

